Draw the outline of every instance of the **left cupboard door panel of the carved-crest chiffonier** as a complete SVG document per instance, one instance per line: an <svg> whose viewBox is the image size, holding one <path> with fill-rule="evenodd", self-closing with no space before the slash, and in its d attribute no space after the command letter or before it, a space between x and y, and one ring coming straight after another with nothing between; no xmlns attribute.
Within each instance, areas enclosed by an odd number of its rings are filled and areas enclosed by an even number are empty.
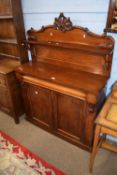
<svg viewBox="0 0 117 175"><path fill-rule="evenodd" d="M41 87L29 86L31 117L37 125L52 127L51 91Z"/></svg>

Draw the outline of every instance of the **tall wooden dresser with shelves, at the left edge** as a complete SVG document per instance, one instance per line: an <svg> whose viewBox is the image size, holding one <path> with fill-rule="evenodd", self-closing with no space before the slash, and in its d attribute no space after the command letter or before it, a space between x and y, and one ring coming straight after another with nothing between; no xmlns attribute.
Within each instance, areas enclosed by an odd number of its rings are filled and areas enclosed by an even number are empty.
<svg viewBox="0 0 117 175"><path fill-rule="evenodd" d="M0 0L0 110L15 122L23 113L20 86L14 69L28 60L20 0Z"/></svg>

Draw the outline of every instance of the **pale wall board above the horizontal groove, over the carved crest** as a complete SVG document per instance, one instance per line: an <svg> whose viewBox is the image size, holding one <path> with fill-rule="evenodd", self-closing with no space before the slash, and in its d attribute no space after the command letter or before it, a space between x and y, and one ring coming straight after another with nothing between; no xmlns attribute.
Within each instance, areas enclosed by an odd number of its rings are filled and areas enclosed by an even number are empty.
<svg viewBox="0 0 117 175"><path fill-rule="evenodd" d="M22 0L24 13L107 12L109 0Z"/></svg>

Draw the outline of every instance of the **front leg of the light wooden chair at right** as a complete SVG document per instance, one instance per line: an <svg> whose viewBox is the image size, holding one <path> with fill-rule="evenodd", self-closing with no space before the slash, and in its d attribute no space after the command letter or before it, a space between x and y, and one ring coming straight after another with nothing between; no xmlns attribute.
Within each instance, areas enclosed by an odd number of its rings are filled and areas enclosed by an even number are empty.
<svg viewBox="0 0 117 175"><path fill-rule="evenodd" d="M99 139L100 139L99 136L100 136L100 126L96 126L94 142L93 142L93 149L92 149L92 153L90 156L90 165L89 165L90 173L92 173L92 170L93 170L94 159L95 159L95 155L97 152L98 143L99 143Z"/></svg>

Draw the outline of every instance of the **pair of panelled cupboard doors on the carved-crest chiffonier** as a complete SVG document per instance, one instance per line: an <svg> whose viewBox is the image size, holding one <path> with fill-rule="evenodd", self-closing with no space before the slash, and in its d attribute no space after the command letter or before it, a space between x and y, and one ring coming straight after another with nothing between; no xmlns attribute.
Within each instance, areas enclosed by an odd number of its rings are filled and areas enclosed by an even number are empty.
<svg viewBox="0 0 117 175"><path fill-rule="evenodd" d="M24 83L22 86L27 119L45 129L82 142L85 102L46 88Z"/></svg>

